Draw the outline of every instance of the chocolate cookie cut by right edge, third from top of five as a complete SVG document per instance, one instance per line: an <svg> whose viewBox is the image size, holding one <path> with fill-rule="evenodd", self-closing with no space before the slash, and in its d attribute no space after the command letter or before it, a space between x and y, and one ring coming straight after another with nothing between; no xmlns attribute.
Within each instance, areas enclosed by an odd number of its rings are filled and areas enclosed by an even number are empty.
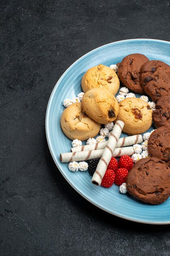
<svg viewBox="0 0 170 256"><path fill-rule="evenodd" d="M160 97L153 111L153 121L157 127L170 124L170 95Z"/></svg>

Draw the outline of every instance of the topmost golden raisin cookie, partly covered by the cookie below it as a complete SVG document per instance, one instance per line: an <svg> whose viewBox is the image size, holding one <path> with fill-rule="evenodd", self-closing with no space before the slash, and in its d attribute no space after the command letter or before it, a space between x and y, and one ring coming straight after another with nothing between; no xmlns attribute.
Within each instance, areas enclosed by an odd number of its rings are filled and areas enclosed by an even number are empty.
<svg viewBox="0 0 170 256"><path fill-rule="evenodd" d="M101 64L87 70L81 80L83 92L93 88L104 87L115 95L119 90L119 86L120 82L115 71Z"/></svg>

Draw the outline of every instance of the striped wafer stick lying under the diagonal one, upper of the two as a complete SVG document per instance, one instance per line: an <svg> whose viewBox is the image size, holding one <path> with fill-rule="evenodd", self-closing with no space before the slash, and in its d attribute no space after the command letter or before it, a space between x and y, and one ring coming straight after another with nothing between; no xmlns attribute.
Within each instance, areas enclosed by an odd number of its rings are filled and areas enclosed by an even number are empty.
<svg viewBox="0 0 170 256"><path fill-rule="evenodd" d="M141 134L133 135L129 137L123 137L118 139L118 143L116 144L116 148L131 146L134 144L139 144L143 142L143 138ZM78 146L71 148L72 152L77 151L89 151L89 150L97 150L97 149L103 149L107 145L107 141L98 142L94 144L84 145L84 146Z"/></svg>

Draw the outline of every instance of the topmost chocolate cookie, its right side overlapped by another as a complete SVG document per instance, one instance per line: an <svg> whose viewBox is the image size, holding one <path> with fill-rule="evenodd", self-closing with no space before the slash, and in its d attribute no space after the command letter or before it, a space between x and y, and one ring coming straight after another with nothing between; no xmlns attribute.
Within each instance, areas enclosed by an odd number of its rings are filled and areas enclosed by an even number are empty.
<svg viewBox="0 0 170 256"><path fill-rule="evenodd" d="M129 54L118 63L118 76L122 83L134 92L144 93L140 85L140 70L142 65L149 59L143 54Z"/></svg>

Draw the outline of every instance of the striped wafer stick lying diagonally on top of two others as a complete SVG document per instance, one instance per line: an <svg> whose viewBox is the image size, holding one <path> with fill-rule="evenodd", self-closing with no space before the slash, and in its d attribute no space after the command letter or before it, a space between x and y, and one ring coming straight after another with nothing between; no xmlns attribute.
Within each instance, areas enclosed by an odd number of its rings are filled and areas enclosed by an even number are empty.
<svg viewBox="0 0 170 256"><path fill-rule="evenodd" d="M102 157L100 158L96 171L94 172L94 175L92 177L92 183L94 185L99 186L101 184L102 178L105 175L107 166L113 155L113 150L115 149L116 144L118 143L118 139L121 135L123 127L124 127L124 122L120 120L116 121L116 124L114 125L113 130L108 139L107 145L102 153Z"/></svg>

